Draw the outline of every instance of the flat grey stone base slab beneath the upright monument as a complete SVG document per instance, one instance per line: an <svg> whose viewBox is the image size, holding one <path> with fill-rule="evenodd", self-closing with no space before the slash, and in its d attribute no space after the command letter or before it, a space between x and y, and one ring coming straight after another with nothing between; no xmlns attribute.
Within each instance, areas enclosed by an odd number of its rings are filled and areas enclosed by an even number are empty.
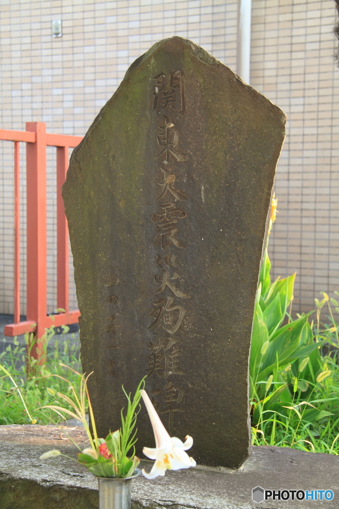
<svg viewBox="0 0 339 509"><path fill-rule="evenodd" d="M85 468L63 457L41 461L50 449L76 457L69 434L82 448L78 427L0 426L0 509L95 509L98 482ZM152 444L147 444L152 446ZM150 470L151 462L142 462ZM332 490L329 501L252 500L252 489ZM254 447L241 470L196 467L133 481L132 509L337 509L339 458L280 447Z"/></svg>

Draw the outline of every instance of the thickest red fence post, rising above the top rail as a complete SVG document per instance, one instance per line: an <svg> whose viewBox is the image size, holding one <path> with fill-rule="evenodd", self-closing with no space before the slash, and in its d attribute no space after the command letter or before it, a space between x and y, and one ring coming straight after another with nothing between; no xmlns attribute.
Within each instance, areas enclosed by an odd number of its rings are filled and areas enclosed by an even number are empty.
<svg viewBox="0 0 339 509"><path fill-rule="evenodd" d="M36 133L27 143L27 320L37 323L36 351L39 364L45 361L43 344L47 315L47 213L46 213L46 125L27 122L26 131Z"/></svg>

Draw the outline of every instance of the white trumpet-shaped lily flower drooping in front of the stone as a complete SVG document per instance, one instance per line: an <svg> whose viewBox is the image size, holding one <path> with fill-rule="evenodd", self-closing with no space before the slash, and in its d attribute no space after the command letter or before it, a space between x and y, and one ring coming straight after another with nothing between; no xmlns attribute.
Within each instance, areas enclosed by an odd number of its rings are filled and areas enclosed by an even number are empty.
<svg viewBox="0 0 339 509"><path fill-rule="evenodd" d="M196 462L190 458L186 450L193 445L193 438L187 435L185 442L181 442L179 438L170 437L167 433L159 415L153 407L145 390L141 390L142 399L146 405L146 409L153 428L156 439L156 448L144 447L143 453L150 460L156 460L149 473L142 469L142 473L147 479L154 479L158 475L165 475L166 470L179 470L180 468L195 467Z"/></svg>

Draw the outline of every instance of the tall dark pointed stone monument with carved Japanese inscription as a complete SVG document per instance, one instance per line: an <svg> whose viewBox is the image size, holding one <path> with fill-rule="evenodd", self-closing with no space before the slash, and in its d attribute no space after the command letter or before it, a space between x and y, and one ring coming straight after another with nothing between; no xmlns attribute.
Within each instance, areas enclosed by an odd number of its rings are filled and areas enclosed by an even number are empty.
<svg viewBox="0 0 339 509"><path fill-rule="evenodd" d="M191 41L128 70L63 188L99 434L146 390L200 464L250 454L248 358L285 115ZM144 411L140 444L152 446ZM141 450L137 451L141 453Z"/></svg>

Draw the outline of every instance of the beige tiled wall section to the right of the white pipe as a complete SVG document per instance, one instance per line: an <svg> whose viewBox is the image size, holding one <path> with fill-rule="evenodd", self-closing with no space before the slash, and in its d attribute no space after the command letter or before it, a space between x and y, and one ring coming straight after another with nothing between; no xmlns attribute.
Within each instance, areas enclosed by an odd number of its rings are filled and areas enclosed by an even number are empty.
<svg viewBox="0 0 339 509"><path fill-rule="evenodd" d="M335 3L254 2L253 86L288 116L270 239L274 277L297 272L294 311L339 290L339 70Z"/></svg>

